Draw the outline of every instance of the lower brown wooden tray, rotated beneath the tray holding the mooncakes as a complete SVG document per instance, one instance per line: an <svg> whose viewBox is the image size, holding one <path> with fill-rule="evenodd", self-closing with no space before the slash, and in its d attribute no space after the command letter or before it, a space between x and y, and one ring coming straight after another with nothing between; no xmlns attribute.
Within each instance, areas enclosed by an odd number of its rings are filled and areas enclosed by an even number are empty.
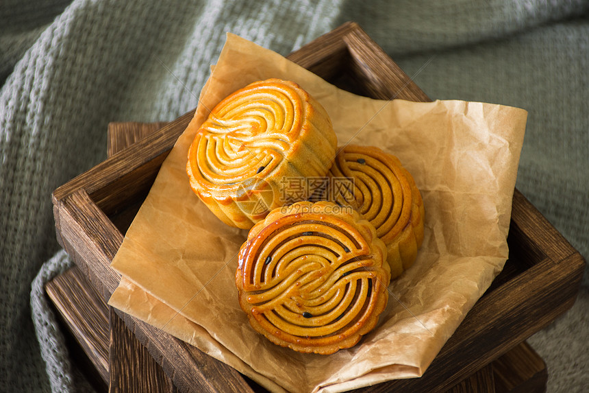
<svg viewBox="0 0 589 393"><path fill-rule="evenodd" d="M110 123L108 156L153 132L163 123ZM171 392L173 383L120 318L106 305L79 268L55 277L47 294L75 340L69 348L98 392ZM110 323L109 323L110 321ZM75 344L75 341L79 345ZM84 354L86 356L84 356ZM85 360L85 361L84 361ZM129 376L133 376L132 379ZM453 386L448 393L545 391L544 361L525 342Z"/></svg>

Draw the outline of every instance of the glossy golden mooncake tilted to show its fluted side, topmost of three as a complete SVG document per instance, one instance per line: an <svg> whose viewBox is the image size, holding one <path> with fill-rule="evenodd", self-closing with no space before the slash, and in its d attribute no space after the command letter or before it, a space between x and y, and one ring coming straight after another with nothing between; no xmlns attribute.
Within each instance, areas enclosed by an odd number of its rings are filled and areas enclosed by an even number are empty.
<svg viewBox="0 0 589 393"><path fill-rule="evenodd" d="M215 106L192 141L186 171L219 219L249 229L284 204L285 179L326 176L336 146L323 106L294 82L269 79Z"/></svg>

